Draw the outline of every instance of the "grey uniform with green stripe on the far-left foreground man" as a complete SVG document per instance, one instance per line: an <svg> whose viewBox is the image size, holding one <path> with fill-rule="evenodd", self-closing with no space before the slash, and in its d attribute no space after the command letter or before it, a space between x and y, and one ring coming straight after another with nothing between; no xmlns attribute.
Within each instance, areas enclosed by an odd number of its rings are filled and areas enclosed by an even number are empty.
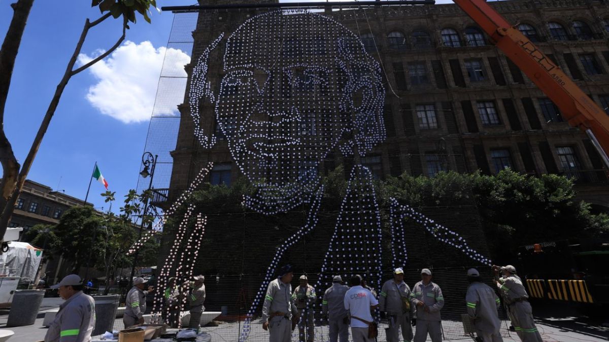
<svg viewBox="0 0 609 342"><path fill-rule="evenodd" d="M90 342L95 327L95 302L82 291L59 305L44 342Z"/></svg>

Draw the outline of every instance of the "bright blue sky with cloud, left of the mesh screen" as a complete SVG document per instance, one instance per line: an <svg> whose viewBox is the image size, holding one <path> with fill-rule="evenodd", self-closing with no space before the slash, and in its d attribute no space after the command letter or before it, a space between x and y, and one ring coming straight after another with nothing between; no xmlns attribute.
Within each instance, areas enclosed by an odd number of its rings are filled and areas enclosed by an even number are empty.
<svg viewBox="0 0 609 342"><path fill-rule="evenodd" d="M2 39L12 18L11 2L0 0ZM192 3L158 1L159 7ZM5 131L20 162L26 158L85 18L100 16L99 10L91 9L90 1L57 4L48 0L34 2L13 72L5 108ZM153 11L152 24L148 24L138 16L138 23L127 31L126 40L132 43L121 47L121 54L112 58L114 62L72 77L30 170L30 180L85 198L97 161L110 190L116 191L117 196L122 197L128 189L136 187L159 62L173 17L169 12ZM120 23L110 19L94 27L82 52L89 57L99 54L99 49L114 44L120 30ZM133 84L128 83L130 77L135 79ZM91 184L88 200L96 208L108 209L99 195L103 191L99 183Z"/></svg>

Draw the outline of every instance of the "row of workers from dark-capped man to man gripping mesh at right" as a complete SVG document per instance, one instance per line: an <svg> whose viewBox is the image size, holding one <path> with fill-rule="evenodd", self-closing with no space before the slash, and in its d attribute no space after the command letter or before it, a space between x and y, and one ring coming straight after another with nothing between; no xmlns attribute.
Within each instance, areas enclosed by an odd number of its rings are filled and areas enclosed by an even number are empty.
<svg viewBox="0 0 609 342"><path fill-rule="evenodd" d="M542 342L535 327L531 306L523 282L512 265L493 266L495 284L507 307L507 312L518 337L523 342ZM467 271L470 287L465 296L466 309L471 318L476 340L503 341L499 333L501 321L498 309L501 299L496 291L482 282L480 273ZM277 279L270 282L262 306L262 329L269 330L270 342L289 342L292 330L298 326L298 340L313 342L315 288L308 284L306 275L300 276L300 285L292 292L294 271L289 265L280 270ZM359 275L351 277L343 285L342 277L334 276L333 284L323 294L322 315L328 320L329 342L347 342L351 327L353 342L373 342L376 322L373 313L378 308L381 318L386 318L387 342L424 342L428 336L432 342L442 341L444 306L442 289L432 280L431 270L421 270L421 281L412 287L404 282L404 270L396 268L393 279L386 281L377 296ZM412 332L415 327L415 333Z"/></svg>

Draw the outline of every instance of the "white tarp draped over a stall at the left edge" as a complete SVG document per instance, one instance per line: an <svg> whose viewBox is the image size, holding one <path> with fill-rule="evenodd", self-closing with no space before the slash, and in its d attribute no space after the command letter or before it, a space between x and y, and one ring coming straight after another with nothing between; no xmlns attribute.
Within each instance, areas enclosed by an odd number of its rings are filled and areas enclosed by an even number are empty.
<svg viewBox="0 0 609 342"><path fill-rule="evenodd" d="M0 273L21 277L22 281L34 281L42 260L42 250L27 242L11 241L9 251L0 255Z"/></svg>

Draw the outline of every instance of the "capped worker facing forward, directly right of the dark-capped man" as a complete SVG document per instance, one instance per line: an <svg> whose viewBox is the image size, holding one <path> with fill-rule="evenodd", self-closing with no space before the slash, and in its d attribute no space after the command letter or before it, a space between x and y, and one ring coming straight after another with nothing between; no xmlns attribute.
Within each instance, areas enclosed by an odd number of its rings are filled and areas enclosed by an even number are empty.
<svg viewBox="0 0 609 342"><path fill-rule="evenodd" d="M315 337L315 288L309 285L309 279L305 274L300 276L300 285L294 289L292 299L300 312L298 322L298 341L313 342Z"/></svg>

